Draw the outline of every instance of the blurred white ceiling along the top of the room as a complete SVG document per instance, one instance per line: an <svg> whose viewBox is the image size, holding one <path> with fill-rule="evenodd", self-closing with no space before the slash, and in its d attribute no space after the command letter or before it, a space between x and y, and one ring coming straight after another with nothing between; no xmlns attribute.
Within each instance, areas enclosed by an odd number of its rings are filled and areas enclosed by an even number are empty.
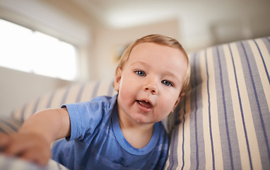
<svg viewBox="0 0 270 170"><path fill-rule="evenodd" d="M106 26L127 28L170 18L215 18L243 11L243 0L181 1L181 0L72 0ZM250 8L254 0L245 0ZM255 1L254 1L255 2ZM218 15L217 15L218 14ZM243 13L245 15L245 13ZM184 17L183 17L184 16ZM193 18L192 18L193 16Z"/></svg>

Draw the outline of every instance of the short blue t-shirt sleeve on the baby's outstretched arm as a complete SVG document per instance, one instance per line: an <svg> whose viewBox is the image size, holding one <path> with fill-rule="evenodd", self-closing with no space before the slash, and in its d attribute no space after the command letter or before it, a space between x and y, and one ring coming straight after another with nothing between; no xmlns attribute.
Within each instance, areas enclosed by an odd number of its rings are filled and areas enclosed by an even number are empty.
<svg viewBox="0 0 270 170"><path fill-rule="evenodd" d="M117 96L100 96L92 101L66 104L71 122L71 135L66 140L87 140L95 129L110 118Z"/></svg>

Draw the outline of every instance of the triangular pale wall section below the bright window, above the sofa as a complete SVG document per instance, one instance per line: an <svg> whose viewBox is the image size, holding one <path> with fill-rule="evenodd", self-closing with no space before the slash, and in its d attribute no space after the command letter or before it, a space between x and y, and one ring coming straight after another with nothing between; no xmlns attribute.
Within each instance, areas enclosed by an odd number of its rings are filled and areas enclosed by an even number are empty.
<svg viewBox="0 0 270 170"><path fill-rule="evenodd" d="M8 116L14 108L53 91L60 86L71 84L70 81L42 77L37 74L18 72L0 67L0 116Z"/></svg>

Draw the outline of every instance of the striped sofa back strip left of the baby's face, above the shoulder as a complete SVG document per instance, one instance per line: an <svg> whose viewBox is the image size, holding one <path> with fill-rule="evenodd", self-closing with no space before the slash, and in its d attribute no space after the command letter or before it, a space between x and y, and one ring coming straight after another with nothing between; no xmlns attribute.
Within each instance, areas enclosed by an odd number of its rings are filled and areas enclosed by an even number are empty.
<svg viewBox="0 0 270 170"><path fill-rule="evenodd" d="M113 81L90 81L85 84L74 84L45 94L40 98L30 101L25 106L13 112L13 118L23 122L30 115L45 108L59 108L62 104L90 101L95 96L113 96L117 94L112 86Z"/></svg>

